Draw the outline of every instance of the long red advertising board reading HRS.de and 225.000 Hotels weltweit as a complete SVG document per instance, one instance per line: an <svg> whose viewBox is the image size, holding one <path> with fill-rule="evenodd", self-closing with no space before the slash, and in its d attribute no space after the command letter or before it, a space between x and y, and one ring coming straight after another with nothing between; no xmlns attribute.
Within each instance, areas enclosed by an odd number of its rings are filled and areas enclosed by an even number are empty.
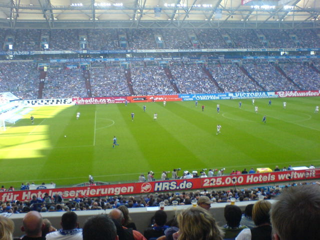
<svg viewBox="0 0 320 240"><path fill-rule="evenodd" d="M213 176L205 178L197 177L191 179L119 183L110 185L5 191L0 192L0 200L30 200L32 195L42 198L44 193L48 193L50 196L59 194L62 195L63 198L74 198L75 196L97 197L124 194L134 195L161 191L192 190L222 186L234 187L239 185L269 184L282 181L311 180L318 178L320 178L320 168L297 171L277 171L254 174Z"/></svg>

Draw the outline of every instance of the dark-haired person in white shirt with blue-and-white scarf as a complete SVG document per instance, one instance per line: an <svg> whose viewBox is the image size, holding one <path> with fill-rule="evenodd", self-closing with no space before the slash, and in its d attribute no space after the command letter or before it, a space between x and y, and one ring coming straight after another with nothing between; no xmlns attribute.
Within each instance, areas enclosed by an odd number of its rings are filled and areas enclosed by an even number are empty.
<svg viewBox="0 0 320 240"><path fill-rule="evenodd" d="M46 240L82 240L82 229L78 228L77 215L73 211L63 213L61 217L62 229L48 233Z"/></svg>

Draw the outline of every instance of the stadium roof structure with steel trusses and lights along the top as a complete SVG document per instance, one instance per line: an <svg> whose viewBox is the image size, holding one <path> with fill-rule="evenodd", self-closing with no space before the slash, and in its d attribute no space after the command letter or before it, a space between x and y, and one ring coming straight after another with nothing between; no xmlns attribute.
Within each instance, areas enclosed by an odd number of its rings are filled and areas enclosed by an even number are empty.
<svg viewBox="0 0 320 240"><path fill-rule="evenodd" d="M0 0L5 28L319 28L320 0Z"/></svg>

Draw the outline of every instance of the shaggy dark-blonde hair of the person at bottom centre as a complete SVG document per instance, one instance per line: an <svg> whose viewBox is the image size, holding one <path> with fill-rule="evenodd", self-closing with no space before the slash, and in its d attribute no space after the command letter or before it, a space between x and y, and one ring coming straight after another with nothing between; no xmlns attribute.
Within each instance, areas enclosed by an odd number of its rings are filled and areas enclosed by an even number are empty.
<svg viewBox="0 0 320 240"><path fill-rule="evenodd" d="M214 218L202 207L189 207L177 216L178 240L222 240L223 233Z"/></svg>

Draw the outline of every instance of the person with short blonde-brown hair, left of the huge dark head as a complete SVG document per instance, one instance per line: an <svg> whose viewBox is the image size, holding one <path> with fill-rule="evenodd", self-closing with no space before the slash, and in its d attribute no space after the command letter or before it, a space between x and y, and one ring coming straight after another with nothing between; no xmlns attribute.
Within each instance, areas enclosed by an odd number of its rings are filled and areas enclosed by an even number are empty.
<svg viewBox="0 0 320 240"><path fill-rule="evenodd" d="M244 228L235 240L271 240L270 209L271 203L267 200L255 202L252 209L252 219L256 227Z"/></svg>

